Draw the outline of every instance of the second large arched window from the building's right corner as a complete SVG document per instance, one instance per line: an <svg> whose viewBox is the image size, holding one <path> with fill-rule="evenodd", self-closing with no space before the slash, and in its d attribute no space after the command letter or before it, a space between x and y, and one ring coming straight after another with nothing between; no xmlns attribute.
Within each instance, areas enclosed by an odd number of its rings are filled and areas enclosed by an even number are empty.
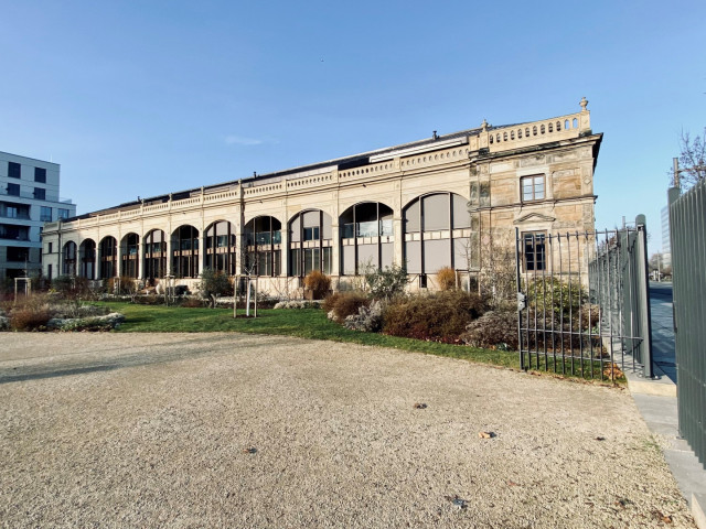
<svg viewBox="0 0 706 529"><path fill-rule="evenodd" d="M368 267L393 264L393 210L378 202L349 207L339 218L341 226L341 273L356 276Z"/></svg>

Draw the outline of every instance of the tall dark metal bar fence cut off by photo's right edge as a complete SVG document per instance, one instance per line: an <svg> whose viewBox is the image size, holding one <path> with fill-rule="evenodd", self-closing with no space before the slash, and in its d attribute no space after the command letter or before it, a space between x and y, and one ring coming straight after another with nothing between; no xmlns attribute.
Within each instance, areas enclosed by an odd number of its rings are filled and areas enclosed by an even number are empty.
<svg viewBox="0 0 706 529"><path fill-rule="evenodd" d="M670 190L680 433L706 464L706 182Z"/></svg>

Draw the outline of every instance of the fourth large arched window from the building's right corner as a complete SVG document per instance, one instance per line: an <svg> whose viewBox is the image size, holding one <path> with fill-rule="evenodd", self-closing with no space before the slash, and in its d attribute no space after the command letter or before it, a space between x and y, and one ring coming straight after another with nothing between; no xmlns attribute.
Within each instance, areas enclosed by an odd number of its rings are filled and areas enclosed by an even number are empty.
<svg viewBox="0 0 706 529"><path fill-rule="evenodd" d="M282 225L275 217L255 217L245 225L243 267L257 276L279 276Z"/></svg>

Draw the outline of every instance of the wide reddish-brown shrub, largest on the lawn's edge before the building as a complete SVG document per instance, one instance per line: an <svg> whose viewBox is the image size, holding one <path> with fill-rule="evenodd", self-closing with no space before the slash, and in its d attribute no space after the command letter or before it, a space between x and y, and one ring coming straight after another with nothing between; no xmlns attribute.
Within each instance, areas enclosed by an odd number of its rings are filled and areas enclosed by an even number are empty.
<svg viewBox="0 0 706 529"><path fill-rule="evenodd" d="M485 300L459 290L398 299L384 311L383 332L394 336L457 343L485 311Z"/></svg>

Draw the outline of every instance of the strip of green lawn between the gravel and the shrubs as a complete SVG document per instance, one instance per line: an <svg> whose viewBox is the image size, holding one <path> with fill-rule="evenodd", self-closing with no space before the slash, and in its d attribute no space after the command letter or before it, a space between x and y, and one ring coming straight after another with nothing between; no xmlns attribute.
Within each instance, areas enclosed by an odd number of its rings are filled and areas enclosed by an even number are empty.
<svg viewBox="0 0 706 529"><path fill-rule="evenodd" d="M375 345L394 349L426 353L429 355L462 358L479 364L520 369L520 355L516 352L481 349L463 345L439 344L418 339L399 338L376 333L349 331L327 319L321 309L259 310L257 319L233 319L231 309L184 309L181 306L138 305L131 303L97 303L109 306L111 311L121 312L126 322L120 325L119 333L213 333L236 332L249 334L268 334L298 336L310 339L330 339L350 342L362 345ZM243 316L243 309L238 316ZM586 363L586 375L589 373ZM596 376L600 377L600 364L596 363ZM554 367L549 366L549 373ZM545 373L542 361L538 373ZM565 378L582 378L577 369L576 375L560 375ZM619 380L619 384L624 384Z"/></svg>

